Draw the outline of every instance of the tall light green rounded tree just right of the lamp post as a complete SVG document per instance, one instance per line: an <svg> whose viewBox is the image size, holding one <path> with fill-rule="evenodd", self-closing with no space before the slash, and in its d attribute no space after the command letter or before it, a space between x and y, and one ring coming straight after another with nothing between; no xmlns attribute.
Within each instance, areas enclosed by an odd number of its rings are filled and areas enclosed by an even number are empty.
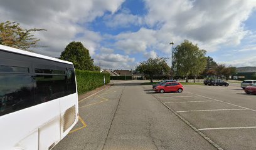
<svg viewBox="0 0 256 150"><path fill-rule="evenodd" d="M174 66L178 76L184 76L188 83L188 76L198 76L206 66L206 51L199 49L192 42L184 40L174 49Z"/></svg>

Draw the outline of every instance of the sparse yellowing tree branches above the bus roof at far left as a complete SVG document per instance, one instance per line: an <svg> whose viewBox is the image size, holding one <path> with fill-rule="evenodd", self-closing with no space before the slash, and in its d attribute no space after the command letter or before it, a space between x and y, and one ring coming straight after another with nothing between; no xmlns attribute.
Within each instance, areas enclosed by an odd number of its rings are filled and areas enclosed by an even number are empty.
<svg viewBox="0 0 256 150"><path fill-rule="evenodd" d="M23 29L17 22L1 22L0 23L0 44L10 46L25 51L30 47L36 47L36 43L40 39L36 39L31 32L46 31L45 29Z"/></svg>

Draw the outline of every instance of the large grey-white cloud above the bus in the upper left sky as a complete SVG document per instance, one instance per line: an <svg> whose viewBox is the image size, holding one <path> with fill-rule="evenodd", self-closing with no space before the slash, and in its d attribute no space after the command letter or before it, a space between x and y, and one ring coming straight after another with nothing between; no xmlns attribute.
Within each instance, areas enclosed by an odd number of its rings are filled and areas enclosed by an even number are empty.
<svg viewBox="0 0 256 150"><path fill-rule="evenodd" d="M63 0L57 1L14 1L0 0L0 21L17 21L26 28L43 28L47 31L36 33L40 45L46 46L35 52L59 56L71 41L81 40L91 54L100 47L100 34L88 31L79 24L91 22L109 11L114 14L124 0ZM77 34L84 34L78 37Z"/></svg>

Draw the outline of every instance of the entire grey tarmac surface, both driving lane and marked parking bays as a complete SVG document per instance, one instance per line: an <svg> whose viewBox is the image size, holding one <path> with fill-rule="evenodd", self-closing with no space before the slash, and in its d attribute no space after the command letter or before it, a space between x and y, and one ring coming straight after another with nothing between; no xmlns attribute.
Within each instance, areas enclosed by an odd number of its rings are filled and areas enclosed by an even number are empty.
<svg viewBox="0 0 256 150"><path fill-rule="evenodd" d="M161 94L144 82L82 99L80 121L53 149L256 149L256 95L240 84Z"/></svg>

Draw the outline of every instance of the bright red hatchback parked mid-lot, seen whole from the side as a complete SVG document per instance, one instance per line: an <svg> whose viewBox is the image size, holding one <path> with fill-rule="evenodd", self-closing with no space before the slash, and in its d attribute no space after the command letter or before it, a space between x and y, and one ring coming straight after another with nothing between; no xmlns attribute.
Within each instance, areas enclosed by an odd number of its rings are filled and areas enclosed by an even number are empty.
<svg viewBox="0 0 256 150"><path fill-rule="evenodd" d="M184 90L182 84L178 82L172 82L172 83L165 83L161 86L157 86L154 88L154 91L159 92L159 93L165 93L165 92L178 92L182 93Z"/></svg>

